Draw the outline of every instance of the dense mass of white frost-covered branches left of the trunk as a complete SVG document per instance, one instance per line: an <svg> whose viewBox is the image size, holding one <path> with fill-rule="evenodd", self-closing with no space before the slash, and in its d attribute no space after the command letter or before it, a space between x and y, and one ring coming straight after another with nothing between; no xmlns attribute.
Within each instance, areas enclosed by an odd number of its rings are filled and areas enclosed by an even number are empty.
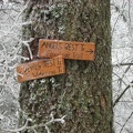
<svg viewBox="0 0 133 133"><path fill-rule="evenodd" d="M32 23L30 20L22 22L27 6L4 2L0 7L0 129L18 126L20 84L16 69L21 59L29 60L21 55L22 45L27 45L32 59L29 45L32 39L23 41L21 34L22 27Z"/></svg>

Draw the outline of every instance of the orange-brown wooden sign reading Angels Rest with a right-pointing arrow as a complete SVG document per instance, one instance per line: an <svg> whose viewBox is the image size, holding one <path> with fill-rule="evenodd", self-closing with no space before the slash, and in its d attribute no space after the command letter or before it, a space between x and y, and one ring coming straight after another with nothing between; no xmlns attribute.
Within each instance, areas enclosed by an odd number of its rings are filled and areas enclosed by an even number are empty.
<svg viewBox="0 0 133 133"><path fill-rule="evenodd" d="M95 44L92 42L73 42L61 40L39 41L39 58L63 55L65 59L94 60Z"/></svg>

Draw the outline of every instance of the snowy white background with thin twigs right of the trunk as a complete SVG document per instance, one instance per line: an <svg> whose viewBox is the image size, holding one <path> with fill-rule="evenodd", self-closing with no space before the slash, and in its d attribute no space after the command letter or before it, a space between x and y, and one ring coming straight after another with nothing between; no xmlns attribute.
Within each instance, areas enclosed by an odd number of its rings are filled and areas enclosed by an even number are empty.
<svg viewBox="0 0 133 133"><path fill-rule="evenodd" d="M117 64L113 68L113 101L127 85L131 85L114 106L114 129L115 133L132 133L133 89L131 82L133 66L121 64L133 62L133 1L112 0L112 3L119 7L119 11L115 7L111 7L112 64ZM126 21L123 17L126 18Z"/></svg>

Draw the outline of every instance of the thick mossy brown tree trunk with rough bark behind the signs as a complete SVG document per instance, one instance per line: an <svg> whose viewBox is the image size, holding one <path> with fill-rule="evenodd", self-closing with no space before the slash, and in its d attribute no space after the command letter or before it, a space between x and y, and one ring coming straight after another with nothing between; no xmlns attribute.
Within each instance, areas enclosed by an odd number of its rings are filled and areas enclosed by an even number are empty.
<svg viewBox="0 0 133 133"><path fill-rule="evenodd" d="M95 42L95 60L65 60L65 74L22 83L20 106L33 120L29 125L48 122L53 112L66 117L50 126L52 133L113 133L110 0L50 1L31 0L24 14L33 21L23 38L35 38L34 59L42 38ZM22 54L29 55L25 48Z"/></svg>

